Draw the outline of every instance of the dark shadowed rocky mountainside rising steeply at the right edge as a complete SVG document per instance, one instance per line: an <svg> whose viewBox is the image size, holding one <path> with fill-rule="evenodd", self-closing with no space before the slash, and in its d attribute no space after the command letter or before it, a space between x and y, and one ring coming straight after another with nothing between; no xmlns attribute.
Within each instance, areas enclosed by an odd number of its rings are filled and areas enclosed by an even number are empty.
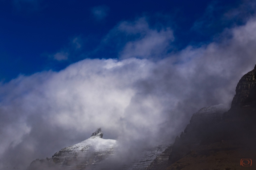
<svg viewBox="0 0 256 170"><path fill-rule="evenodd" d="M193 123L194 114L184 133L176 138L166 170L240 170L240 160L256 161L256 67L236 86L231 109L213 121ZM200 117L200 116L199 116ZM193 120L194 119L194 120ZM203 127L203 129L202 129ZM252 163L251 169L256 169Z"/></svg>

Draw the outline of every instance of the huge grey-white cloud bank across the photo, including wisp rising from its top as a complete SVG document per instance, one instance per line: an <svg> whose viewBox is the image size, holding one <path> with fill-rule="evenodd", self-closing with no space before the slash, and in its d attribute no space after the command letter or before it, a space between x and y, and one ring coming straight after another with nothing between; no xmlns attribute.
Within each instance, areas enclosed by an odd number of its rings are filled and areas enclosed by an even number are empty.
<svg viewBox="0 0 256 170"><path fill-rule="evenodd" d="M130 154L171 143L200 108L230 105L256 64L255 17L218 42L179 52L170 51L170 28L152 29L143 18L114 29L103 41L126 36L120 59L85 59L0 85L0 169L25 169L98 127Z"/></svg>

